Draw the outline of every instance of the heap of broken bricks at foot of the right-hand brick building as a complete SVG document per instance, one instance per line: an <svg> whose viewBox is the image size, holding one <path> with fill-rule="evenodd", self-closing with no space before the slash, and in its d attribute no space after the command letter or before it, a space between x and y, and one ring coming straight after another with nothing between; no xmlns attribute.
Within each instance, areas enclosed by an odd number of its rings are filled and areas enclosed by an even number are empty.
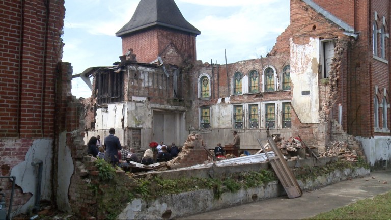
<svg viewBox="0 0 391 220"><path fill-rule="evenodd" d="M321 153L321 157L338 156L344 160L356 162L357 152L349 149L349 144L345 142L333 141L326 152Z"/></svg>

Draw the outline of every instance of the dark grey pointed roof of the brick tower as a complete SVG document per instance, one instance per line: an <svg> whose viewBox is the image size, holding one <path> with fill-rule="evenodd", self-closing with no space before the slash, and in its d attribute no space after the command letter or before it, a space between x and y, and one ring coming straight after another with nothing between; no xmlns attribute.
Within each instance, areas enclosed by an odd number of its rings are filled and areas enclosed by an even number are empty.
<svg viewBox="0 0 391 220"><path fill-rule="evenodd" d="M132 19L116 33L116 36L122 37L152 26L165 26L194 35L201 34L183 17L174 0L140 0Z"/></svg>

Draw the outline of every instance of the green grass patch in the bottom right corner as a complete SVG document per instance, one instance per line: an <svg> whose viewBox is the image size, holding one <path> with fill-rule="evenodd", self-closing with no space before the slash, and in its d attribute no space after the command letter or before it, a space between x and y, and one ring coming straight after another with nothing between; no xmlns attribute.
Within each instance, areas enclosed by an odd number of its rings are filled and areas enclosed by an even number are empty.
<svg viewBox="0 0 391 220"><path fill-rule="evenodd" d="M391 219L391 191L306 219Z"/></svg>

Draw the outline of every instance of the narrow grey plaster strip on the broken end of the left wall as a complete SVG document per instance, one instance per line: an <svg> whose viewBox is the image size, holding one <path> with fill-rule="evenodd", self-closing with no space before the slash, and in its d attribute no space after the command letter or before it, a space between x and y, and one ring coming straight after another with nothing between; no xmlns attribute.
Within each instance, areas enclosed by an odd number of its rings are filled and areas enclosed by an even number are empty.
<svg viewBox="0 0 391 220"><path fill-rule="evenodd" d="M57 206L62 207L63 211L72 211L68 199L68 189L71 184L71 177L74 173L71 150L65 144L67 132L64 131L59 135L58 150L58 171L57 171Z"/></svg>

